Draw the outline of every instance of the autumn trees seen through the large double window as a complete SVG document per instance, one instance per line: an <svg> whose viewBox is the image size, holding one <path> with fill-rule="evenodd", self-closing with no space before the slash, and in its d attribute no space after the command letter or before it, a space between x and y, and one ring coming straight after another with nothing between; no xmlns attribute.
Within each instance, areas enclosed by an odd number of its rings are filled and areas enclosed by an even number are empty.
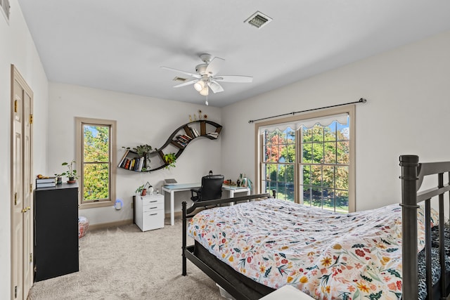
<svg viewBox="0 0 450 300"><path fill-rule="evenodd" d="M342 127L342 126L341 126ZM300 129L301 148L298 187L304 204L347 212L349 200L348 126L338 129L316 124ZM266 132L263 166L266 190L277 190L277 197L294 200L295 131Z"/></svg>

